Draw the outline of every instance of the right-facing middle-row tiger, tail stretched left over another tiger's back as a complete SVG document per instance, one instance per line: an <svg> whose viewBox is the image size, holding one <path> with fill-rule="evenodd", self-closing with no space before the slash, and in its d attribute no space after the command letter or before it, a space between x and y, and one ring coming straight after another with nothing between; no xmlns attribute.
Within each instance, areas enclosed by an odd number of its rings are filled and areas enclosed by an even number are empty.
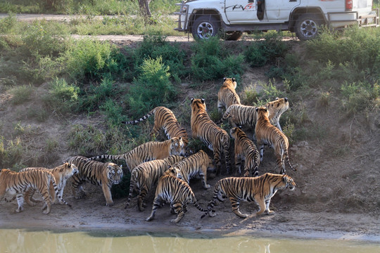
<svg viewBox="0 0 380 253"><path fill-rule="evenodd" d="M123 155L99 155L89 160L125 160L129 172L137 165L151 160L163 159L170 155L184 156L186 150L181 137L173 137L167 141L148 141Z"/></svg>

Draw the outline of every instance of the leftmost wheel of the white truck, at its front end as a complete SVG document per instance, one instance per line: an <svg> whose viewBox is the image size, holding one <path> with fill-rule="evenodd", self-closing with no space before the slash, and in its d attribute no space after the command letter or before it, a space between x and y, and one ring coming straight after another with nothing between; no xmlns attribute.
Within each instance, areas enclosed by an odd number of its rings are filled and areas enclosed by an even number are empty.
<svg viewBox="0 0 380 253"><path fill-rule="evenodd" d="M201 15L194 21L191 33L194 39L209 39L217 36L219 32L219 21L212 15Z"/></svg>

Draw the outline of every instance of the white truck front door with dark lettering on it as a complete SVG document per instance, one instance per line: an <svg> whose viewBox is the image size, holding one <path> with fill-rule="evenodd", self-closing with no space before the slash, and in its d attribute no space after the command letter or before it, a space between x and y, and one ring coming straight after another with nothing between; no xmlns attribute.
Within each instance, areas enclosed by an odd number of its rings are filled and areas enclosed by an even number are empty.
<svg viewBox="0 0 380 253"><path fill-rule="evenodd" d="M247 24L258 22L257 4L258 0L226 0L224 11L231 24Z"/></svg>

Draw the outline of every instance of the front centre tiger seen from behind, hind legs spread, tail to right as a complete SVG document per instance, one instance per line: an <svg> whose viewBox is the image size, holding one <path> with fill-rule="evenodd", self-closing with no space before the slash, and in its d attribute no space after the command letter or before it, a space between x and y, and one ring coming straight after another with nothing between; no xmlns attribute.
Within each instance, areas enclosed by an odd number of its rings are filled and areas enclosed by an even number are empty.
<svg viewBox="0 0 380 253"><path fill-rule="evenodd" d="M153 201L151 216L148 216L146 221L153 220L158 207L161 207L165 202L170 202L171 212L177 214L176 219L170 220L171 223L178 223L184 217L185 212L187 212L186 207L188 202L192 202L201 212L208 212L207 209L203 209L198 205L189 184L170 174L172 169L177 170L179 174L177 168L170 167L170 169L165 171L163 176L160 177L156 188L156 197Z"/></svg>

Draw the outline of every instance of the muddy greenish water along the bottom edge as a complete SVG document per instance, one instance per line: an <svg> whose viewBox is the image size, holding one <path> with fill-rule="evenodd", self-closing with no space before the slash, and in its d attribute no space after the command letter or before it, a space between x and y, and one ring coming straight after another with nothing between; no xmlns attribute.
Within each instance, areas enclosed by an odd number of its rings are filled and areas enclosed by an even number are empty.
<svg viewBox="0 0 380 253"><path fill-rule="evenodd" d="M253 236L0 230L0 252L380 252L380 244Z"/></svg>

